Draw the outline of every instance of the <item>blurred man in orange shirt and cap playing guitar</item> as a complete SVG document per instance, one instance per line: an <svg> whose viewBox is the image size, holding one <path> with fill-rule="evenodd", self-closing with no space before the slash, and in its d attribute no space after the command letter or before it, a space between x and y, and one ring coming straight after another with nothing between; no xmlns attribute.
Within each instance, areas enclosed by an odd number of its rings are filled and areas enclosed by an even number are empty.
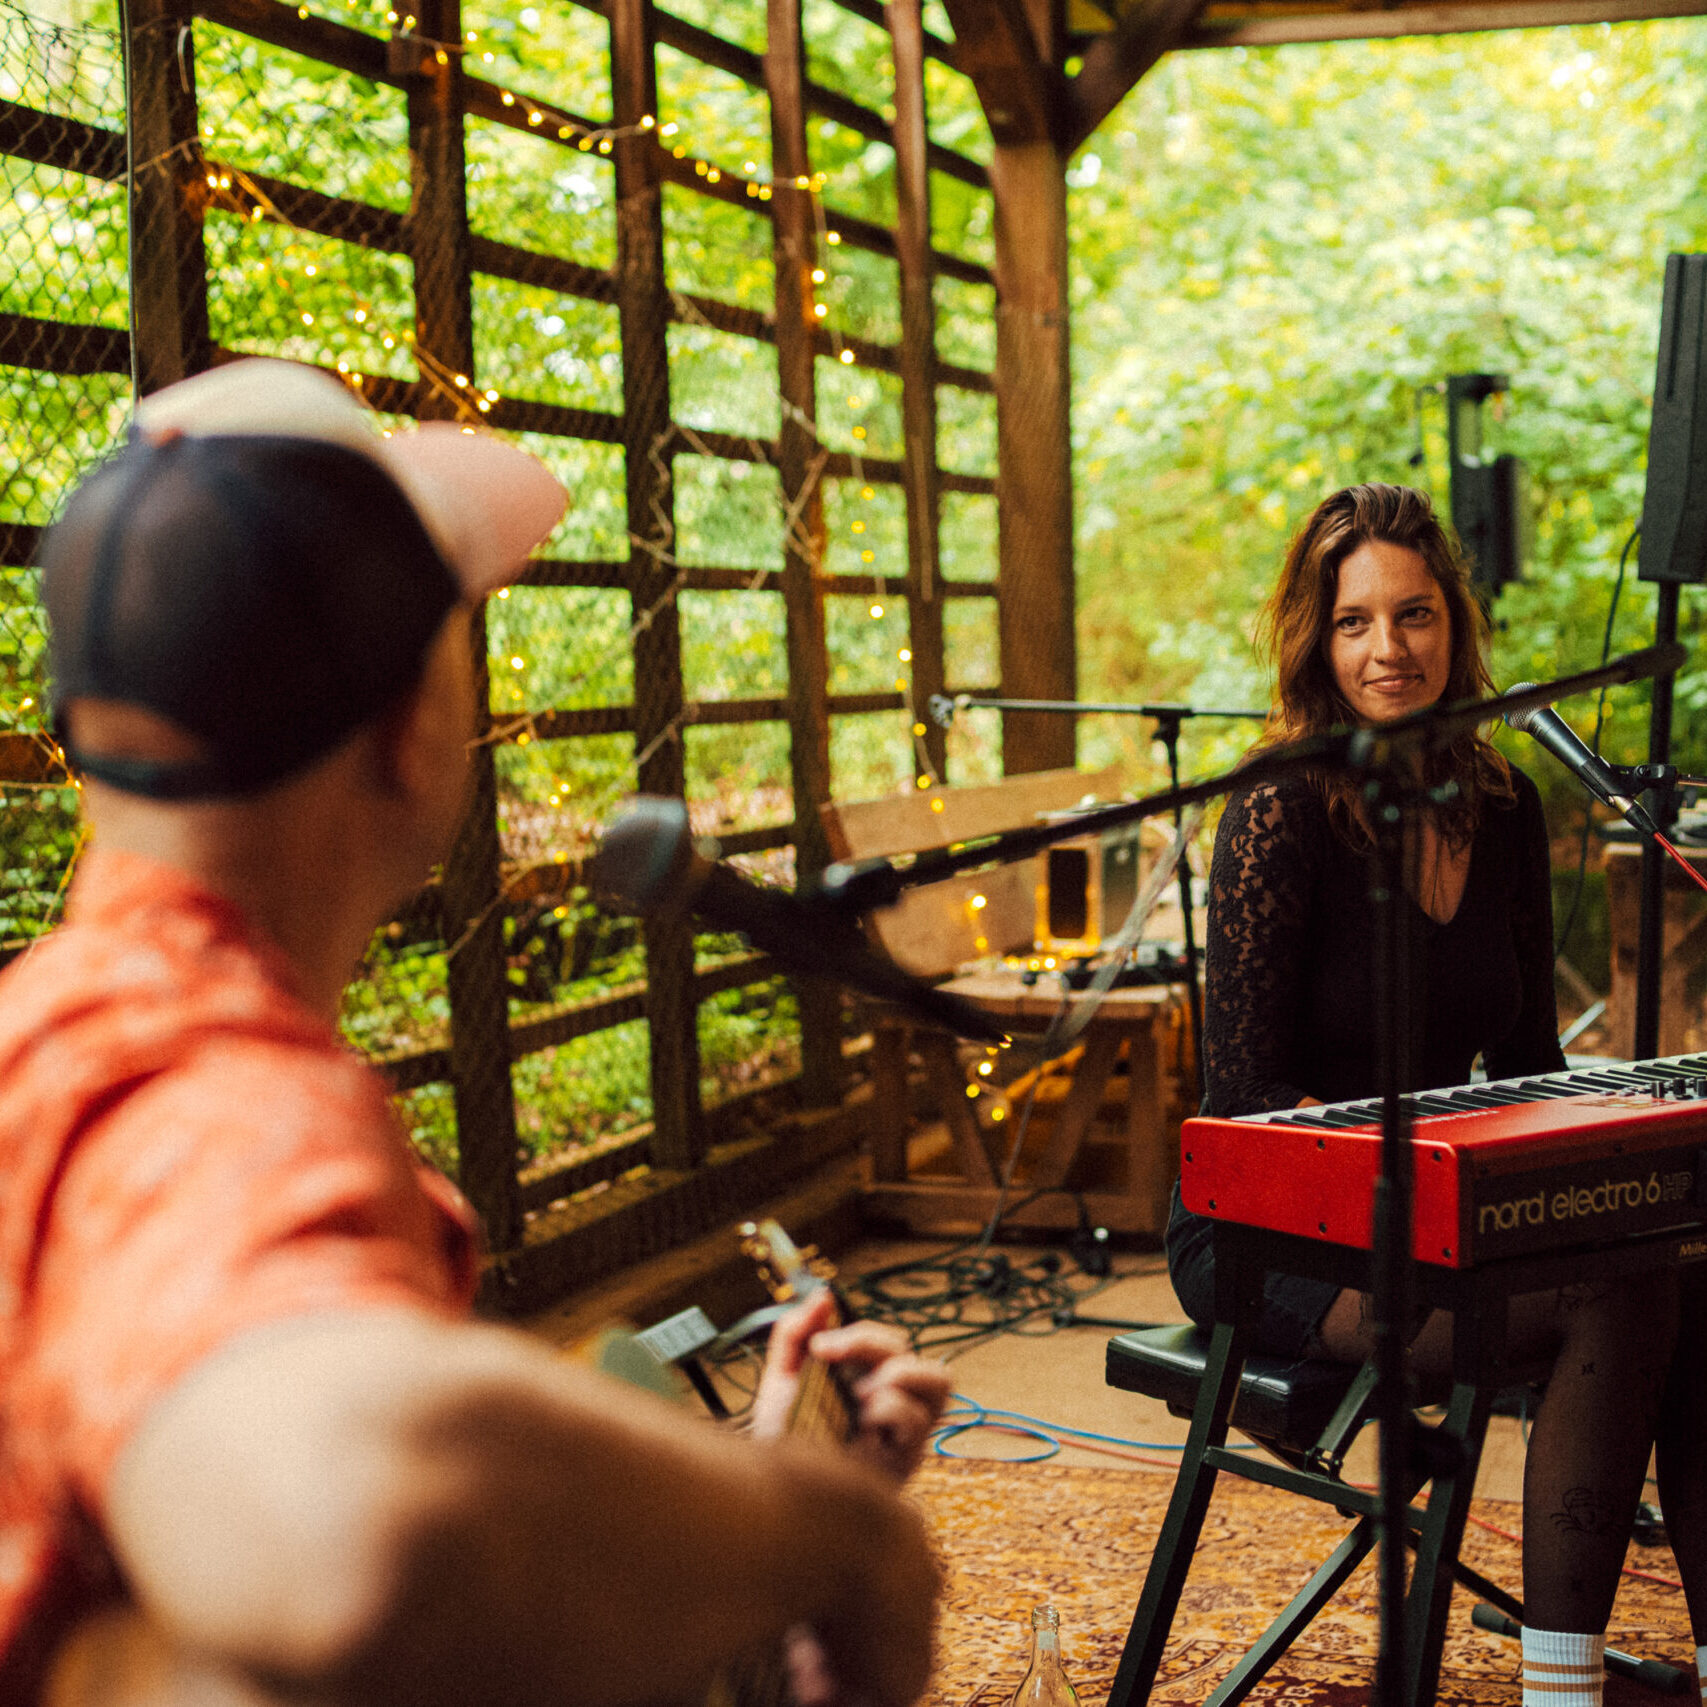
<svg viewBox="0 0 1707 1707"><path fill-rule="evenodd" d="M335 1031L461 816L469 611L562 509L498 439L244 360L149 398L46 541L92 842L0 978L7 1707L638 1707L784 1632L807 1700L923 1685L893 1485L941 1371L778 1328L761 1413L811 1343L843 1456L471 1325L466 1205Z"/></svg>

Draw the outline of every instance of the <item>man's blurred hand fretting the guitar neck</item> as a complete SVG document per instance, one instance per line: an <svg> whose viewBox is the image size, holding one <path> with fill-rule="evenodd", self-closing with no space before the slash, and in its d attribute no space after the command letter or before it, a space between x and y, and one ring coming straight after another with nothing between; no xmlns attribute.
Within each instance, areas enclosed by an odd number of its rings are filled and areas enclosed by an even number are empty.
<svg viewBox="0 0 1707 1707"><path fill-rule="evenodd" d="M855 1456L905 1482L918 1468L947 1403L949 1374L942 1364L917 1357L900 1328L877 1321L836 1328L833 1321L835 1299L824 1289L772 1330L753 1400L753 1434L777 1439L787 1430L801 1369L811 1357L838 1369L847 1383L857 1407L848 1442Z"/></svg>

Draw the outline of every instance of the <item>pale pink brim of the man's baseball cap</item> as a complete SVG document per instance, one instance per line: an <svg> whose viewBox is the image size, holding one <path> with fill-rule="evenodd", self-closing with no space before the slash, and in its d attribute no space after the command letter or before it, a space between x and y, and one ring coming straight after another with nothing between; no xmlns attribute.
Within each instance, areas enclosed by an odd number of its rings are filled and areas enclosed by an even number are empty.
<svg viewBox="0 0 1707 1707"><path fill-rule="evenodd" d="M381 440L381 459L469 599L514 580L568 507L568 492L538 457L451 422Z"/></svg>

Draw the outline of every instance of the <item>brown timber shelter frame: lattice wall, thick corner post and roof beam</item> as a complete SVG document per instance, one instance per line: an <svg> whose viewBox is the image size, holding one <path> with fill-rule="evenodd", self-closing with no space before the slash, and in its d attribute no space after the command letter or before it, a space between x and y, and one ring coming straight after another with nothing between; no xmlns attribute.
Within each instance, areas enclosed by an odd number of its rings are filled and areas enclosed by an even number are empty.
<svg viewBox="0 0 1707 1707"><path fill-rule="evenodd" d="M1074 560L1069 435L1067 186L1072 152L1115 109L1132 84L1176 48L1326 41L1355 36L1518 27L1661 17L1702 10L1702 0L1401 0L1369 10L1350 0L946 0L956 39L923 27L920 0L836 0L889 34L893 119L847 94L814 84L806 68L802 0L766 0L768 51L760 55L674 17L654 0L575 0L604 19L613 87L611 154L616 174L616 258L591 266L570 254L498 241L469 229L464 121L509 126L574 147L596 130L589 119L473 75L461 50L459 0L420 0L389 39L278 0L130 0L130 149L126 137L85 121L0 99L0 155L123 183L126 160L143 162L130 184L135 229L133 336L108 326L63 324L0 314L0 365L58 376L131 374L150 391L227 358L208 329L203 222L210 210L290 225L401 256L413 273L418 377L365 376L357 382L379 410L430 418L454 415L473 394L478 358L471 290L476 275L543 285L613 306L621 329L621 411L568 408L526 396L485 393L481 418L498 428L625 447L626 556L536 560L534 587L625 591L635 613L633 703L592 708L538 707L519 739L626 734L640 756L640 787L681 794L681 731L705 724L787 720L794 821L722 838L725 854L790 845L806 876L828 859L818 807L830 792L830 727L836 715L900 710L900 693L830 693L824 599L836 591L906 599L908 647L918 703L947 688L944 601L997 599L1000 691L1017 698L1072 698ZM205 155L198 133L189 27L205 20L302 55L352 77L401 90L410 133L411 208L396 212L304 184L232 174ZM657 50L669 48L763 92L770 111L773 183L758 186L707 171L664 145L657 114ZM988 167L932 140L927 61L971 79L993 138ZM896 162L896 225L814 205L807 118L831 119L886 143ZM930 181L946 174L993 195L995 263L982 266L932 244ZM775 302L770 312L669 288L664 186L710 196L765 218L773 232ZM818 312L816 244L828 227L842 242L893 259L900 275L901 338L883 345L833 336ZM944 362L935 343L937 275L993 285L993 374ZM782 567L753 572L666 562L661 529L674 505L674 457L683 449L669 405L671 324L691 319L719 333L773 345L782 425L763 457L775 466L789 507ZM905 493L906 572L836 577L823 568L823 478L855 473L854 459L818 442L816 364L833 347L864 367L901 381L905 454L862 457L867 481ZM447 386L446 376L457 384ZM997 475L944 469L937 457L941 386L995 394ZM696 432L698 454L746 459L753 442ZM657 454L642 454L657 452ZM999 512L995 582L944 580L942 493L993 495ZM0 563L34 556L39 529L0 522ZM845 582L840 586L838 582ZM690 703L683 686L678 591L780 592L785 608L787 693L773 698ZM476 632L486 666L485 633ZM504 869L495 823L493 753L510 739L488 720L476 763L476 804L442 883L410 906L417 927L454 944L451 1026L442 1045L386 1062L399 1089L449 1079L456 1087L461 1183L485 1221L492 1248L510 1258L516 1296L586 1279L615 1261L649 1255L703 1229L743 1197L811 1166L833 1123L816 1137L770 1144L719 1142L700 1106L696 1011L710 995L773 973L761 956L696 970L685 922L649 922L649 976L597 1000L512 1021L504 963L505 908L567 894L575 862ZM941 773L941 731L923 751ZM1028 772L1070 765L1069 719L1009 715L1004 766ZM0 782L55 775L51 743L0 734ZM548 1180L519 1183L510 1063L596 1031L645 1017L654 1038L652 1125ZM821 992L802 990L802 1099L828 1108L842 1094L838 1014ZM638 1162L642 1183L611 1186L597 1207L574 1207L574 1238L550 1248L524 1236L524 1214L545 1202L618 1181Z"/></svg>

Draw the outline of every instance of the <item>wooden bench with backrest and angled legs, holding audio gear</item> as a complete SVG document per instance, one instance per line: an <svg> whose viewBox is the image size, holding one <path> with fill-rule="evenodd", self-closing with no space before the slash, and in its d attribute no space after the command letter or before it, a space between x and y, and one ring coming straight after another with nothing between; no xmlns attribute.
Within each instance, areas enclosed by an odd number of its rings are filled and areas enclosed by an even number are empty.
<svg viewBox="0 0 1707 1707"><path fill-rule="evenodd" d="M1031 824L1040 814L1115 792L1115 772L1050 770L988 787L831 802L823 819L836 859L889 859ZM1164 826L1154 835L1159 845ZM910 889L896 906L874 913L871 929L908 971L934 982L951 978L947 988L997 1014L1014 1033L1043 1033L1060 990L1046 973L1028 985L1021 966L987 964L953 978L971 961L1031 958L1038 889L1040 862L1028 859ZM968 1072L975 1048L891 1009L872 1007L869 1017L874 1115L867 1207L915 1231L983 1226L1014 1142L1011 1125L992 1118L999 1110L1005 1115L1007 1099L968 1094L980 1084L976 1070ZM1195 1098L1190 1055L1186 1004L1178 990L1110 992L1070 1055L1033 1069L1038 1101L1007 1197L1009 1205L1022 1207L1009 1219L1074 1227L1082 1198L1099 1226L1161 1234L1178 1171L1180 1118ZM929 1132L915 1132L915 1062L946 1127L946 1145L941 1135L932 1144ZM992 1072L992 1084L1000 1077ZM1012 1106L1019 1108L1017 1096ZM1045 1195L1026 1202L1031 1193Z"/></svg>

